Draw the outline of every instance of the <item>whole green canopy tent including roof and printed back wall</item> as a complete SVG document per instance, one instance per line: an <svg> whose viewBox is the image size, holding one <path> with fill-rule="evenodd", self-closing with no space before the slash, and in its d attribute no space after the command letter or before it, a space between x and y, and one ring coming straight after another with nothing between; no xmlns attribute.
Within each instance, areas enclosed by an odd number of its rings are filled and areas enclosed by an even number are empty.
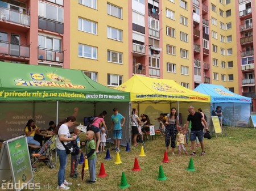
<svg viewBox="0 0 256 191"><path fill-rule="evenodd" d="M0 62L0 67L0 139L24 134L30 118L40 129L47 129L51 120L73 114L83 124L84 117L106 110L110 129L114 107L129 117L129 93L102 86L81 70L7 62ZM129 137L127 128L122 145Z"/></svg>

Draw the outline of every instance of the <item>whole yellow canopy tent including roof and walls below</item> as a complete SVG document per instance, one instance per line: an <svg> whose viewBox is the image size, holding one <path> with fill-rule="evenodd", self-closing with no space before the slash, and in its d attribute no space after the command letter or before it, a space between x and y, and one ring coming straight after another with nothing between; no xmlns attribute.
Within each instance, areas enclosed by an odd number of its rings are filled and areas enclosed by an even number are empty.
<svg viewBox="0 0 256 191"><path fill-rule="evenodd" d="M157 118L160 113L169 113L171 107L176 107L177 112L184 113L184 123L187 120L186 114L188 114L188 105L194 105L196 111L198 107L202 108L203 111L205 109L204 113L209 112L206 111L209 110L209 95L189 90L171 79L158 79L134 75L116 89L130 92L133 107L135 107L134 104L137 103L139 113L143 112L148 114L152 120L152 124L154 124L153 119ZM184 124L181 121L180 114L180 124Z"/></svg>

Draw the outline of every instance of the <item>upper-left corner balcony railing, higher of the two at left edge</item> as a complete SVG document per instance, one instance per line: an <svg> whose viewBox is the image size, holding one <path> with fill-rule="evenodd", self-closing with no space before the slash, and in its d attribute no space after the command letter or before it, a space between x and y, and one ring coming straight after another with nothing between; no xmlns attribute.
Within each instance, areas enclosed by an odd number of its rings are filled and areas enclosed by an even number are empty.
<svg viewBox="0 0 256 191"><path fill-rule="evenodd" d="M0 19L7 20L13 23L30 26L30 15L23 14L18 11L6 9L4 7L0 7Z"/></svg>

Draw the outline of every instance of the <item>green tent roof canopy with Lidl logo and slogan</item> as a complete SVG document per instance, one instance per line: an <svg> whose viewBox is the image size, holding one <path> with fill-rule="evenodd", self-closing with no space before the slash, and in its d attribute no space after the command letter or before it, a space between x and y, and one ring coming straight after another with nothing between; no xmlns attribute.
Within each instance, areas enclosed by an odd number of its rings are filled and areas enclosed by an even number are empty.
<svg viewBox="0 0 256 191"><path fill-rule="evenodd" d="M0 101L130 101L81 70L0 62Z"/></svg>

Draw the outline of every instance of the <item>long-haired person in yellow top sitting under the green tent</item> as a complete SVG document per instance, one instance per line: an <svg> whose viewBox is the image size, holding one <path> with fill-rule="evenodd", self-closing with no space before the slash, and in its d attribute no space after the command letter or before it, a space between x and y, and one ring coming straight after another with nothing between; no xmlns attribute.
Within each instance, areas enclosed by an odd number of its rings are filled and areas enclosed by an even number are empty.
<svg viewBox="0 0 256 191"><path fill-rule="evenodd" d="M35 122L33 120L28 120L26 128L24 129L26 133L27 143L40 146L40 143L34 139L35 132L40 133L40 129L38 126L35 125Z"/></svg>

